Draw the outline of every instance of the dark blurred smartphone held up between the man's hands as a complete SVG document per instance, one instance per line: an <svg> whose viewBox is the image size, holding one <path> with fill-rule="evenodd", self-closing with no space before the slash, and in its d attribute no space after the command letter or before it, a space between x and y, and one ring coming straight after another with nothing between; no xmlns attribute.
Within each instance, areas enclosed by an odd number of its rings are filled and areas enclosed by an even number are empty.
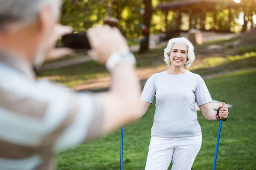
<svg viewBox="0 0 256 170"><path fill-rule="evenodd" d="M71 33L61 38L62 46L72 48L73 50L90 50L86 32Z"/></svg>

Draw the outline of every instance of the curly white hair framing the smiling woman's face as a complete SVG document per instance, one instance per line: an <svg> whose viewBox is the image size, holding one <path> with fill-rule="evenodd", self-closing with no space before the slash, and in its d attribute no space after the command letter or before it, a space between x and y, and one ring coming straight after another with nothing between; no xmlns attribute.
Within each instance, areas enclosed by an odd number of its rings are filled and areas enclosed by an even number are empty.
<svg viewBox="0 0 256 170"><path fill-rule="evenodd" d="M164 61L166 62L166 65L169 68L171 68L172 66L172 63L169 58L169 54L171 53L172 47L175 43L183 43L184 45L186 45L188 49L188 53L187 53L188 61L185 63L184 68L189 68L192 62L195 60L195 52L194 52L193 44L184 37L172 38L171 40L169 40L167 47L164 49Z"/></svg>

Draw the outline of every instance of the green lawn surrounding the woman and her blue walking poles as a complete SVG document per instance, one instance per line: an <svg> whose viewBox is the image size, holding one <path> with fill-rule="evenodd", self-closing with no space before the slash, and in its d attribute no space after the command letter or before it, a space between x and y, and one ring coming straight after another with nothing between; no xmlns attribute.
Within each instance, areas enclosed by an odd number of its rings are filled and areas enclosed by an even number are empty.
<svg viewBox="0 0 256 170"><path fill-rule="evenodd" d="M205 80L213 99L233 105L222 124L217 170L256 169L256 68ZM143 118L124 128L124 170L143 170L154 116L151 105ZM201 151L192 170L211 170L218 134L217 121L198 112L203 133ZM57 170L119 170L120 130L98 141L66 150L57 157ZM171 167L169 168L169 170Z"/></svg>

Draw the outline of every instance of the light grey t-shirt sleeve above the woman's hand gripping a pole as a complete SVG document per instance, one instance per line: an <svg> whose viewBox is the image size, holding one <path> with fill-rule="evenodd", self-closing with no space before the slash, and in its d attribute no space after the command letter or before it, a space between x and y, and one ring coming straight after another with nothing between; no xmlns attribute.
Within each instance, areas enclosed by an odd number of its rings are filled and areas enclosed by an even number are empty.
<svg viewBox="0 0 256 170"><path fill-rule="evenodd" d="M202 77L198 76L198 86L195 91L195 101L198 106L212 102L212 97Z"/></svg>

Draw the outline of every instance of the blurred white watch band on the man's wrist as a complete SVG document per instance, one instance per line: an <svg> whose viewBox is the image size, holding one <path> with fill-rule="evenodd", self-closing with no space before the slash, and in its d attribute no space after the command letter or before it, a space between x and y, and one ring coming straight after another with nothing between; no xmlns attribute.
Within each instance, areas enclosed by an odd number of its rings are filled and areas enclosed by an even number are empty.
<svg viewBox="0 0 256 170"><path fill-rule="evenodd" d="M130 63L133 64L135 67L136 59L134 57L134 54L131 52L127 54L113 53L107 60L106 68L108 71L111 71L114 67L116 67L116 65L120 63Z"/></svg>

